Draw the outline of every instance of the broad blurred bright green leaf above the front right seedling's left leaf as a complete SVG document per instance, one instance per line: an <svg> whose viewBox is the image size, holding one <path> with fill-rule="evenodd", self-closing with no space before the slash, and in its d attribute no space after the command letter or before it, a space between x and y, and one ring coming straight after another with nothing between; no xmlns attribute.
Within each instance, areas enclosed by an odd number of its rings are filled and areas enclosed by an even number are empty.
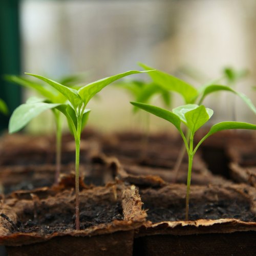
<svg viewBox="0 0 256 256"><path fill-rule="evenodd" d="M139 63L139 66L144 70L154 70L143 63ZM181 94L185 103L193 103L198 96L198 92L193 86L172 75L159 70L148 73L148 75L150 75L153 81L163 89Z"/></svg>

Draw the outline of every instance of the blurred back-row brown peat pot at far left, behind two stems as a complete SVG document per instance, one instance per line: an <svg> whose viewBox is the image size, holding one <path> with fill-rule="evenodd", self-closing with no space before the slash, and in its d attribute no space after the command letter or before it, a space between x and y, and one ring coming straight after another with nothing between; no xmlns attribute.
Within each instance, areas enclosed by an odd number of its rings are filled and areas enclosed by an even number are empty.
<svg viewBox="0 0 256 256"><path fill-rule="evenodd" d="M96 133L86 130L81 135L80 162L87 162L91 154L99 152ZM55 163L55 137L13 134L2 136L0 141L0 165L41 165ZM62 136L62 164L75 162L75 142L70 134Z"/></svg>

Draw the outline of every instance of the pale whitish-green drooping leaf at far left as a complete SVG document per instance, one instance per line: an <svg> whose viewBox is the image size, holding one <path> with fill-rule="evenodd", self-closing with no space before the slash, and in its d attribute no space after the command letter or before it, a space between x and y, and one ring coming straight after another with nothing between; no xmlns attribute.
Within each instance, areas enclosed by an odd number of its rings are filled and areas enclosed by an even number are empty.
<svg viewBox="0 0 256 256"><path fill-rule="evenodd" d="M15 133L28 124L34 117L42 112L56 108L60 104L34 102L25 103L14 110L9 122L9 133Z"/></svg>

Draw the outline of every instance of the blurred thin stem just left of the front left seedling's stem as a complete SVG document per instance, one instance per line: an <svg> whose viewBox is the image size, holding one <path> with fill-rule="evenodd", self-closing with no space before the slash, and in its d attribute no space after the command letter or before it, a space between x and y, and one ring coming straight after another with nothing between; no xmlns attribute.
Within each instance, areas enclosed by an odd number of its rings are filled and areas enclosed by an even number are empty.
<svg viewBox="0 0 256 256"><path fill-rule="evenodd" d="M61 166L61 120L59 112L55 112L56 120L56 173L55 184L58 184Z"/></svg>

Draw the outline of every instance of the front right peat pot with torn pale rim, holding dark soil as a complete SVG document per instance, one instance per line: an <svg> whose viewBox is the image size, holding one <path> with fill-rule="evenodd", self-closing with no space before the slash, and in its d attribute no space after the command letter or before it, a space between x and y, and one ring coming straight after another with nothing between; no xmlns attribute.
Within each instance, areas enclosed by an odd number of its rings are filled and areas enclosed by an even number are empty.
<svg viewBox="0 0 256 256"><path fill-rule="evenodd" d="M255 255L256 190L245 184L140 190L147 223L137 232L134 255Z"/></svg>

